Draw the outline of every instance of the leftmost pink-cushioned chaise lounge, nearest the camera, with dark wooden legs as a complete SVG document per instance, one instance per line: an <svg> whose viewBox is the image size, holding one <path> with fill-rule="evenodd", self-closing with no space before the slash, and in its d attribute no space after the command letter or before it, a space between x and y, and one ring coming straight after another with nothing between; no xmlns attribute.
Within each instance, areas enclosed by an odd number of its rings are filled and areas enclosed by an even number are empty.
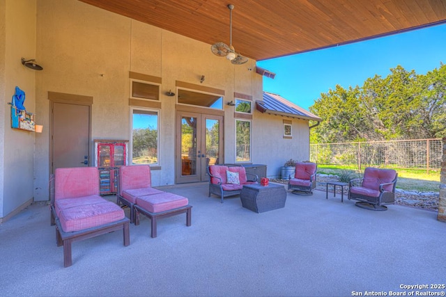
<svg viewBox="0 0 446 297"><path fill-rule="evenodd" d="M71 266L71 243L123 230L124 246L130 244L128 218L121 207L99 195L95 167L57 168L51 225L56 225L57 246L63 245L63 264Z"/></svg>

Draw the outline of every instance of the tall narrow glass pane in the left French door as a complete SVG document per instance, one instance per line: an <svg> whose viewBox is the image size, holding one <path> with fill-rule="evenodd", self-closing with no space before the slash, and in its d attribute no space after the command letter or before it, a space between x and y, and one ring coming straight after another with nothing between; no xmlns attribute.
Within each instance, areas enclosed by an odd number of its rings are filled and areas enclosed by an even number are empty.
<svg viewBox="0 0 446 297"><path fill-rule="evenodd" d="M181 118L181 175L197 175L197 118Z"/></svg>

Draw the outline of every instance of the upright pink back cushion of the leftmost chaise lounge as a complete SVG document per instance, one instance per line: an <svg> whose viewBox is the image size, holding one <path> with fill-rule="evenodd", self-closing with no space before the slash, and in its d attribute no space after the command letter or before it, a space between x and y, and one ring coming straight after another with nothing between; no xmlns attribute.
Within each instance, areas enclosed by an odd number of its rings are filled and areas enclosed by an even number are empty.
<svg viewBox="0 0 446 297"><path fill-rule="evenodd" d="M54 200L99 195L96 167L57 168L54 172Z"/></svg>

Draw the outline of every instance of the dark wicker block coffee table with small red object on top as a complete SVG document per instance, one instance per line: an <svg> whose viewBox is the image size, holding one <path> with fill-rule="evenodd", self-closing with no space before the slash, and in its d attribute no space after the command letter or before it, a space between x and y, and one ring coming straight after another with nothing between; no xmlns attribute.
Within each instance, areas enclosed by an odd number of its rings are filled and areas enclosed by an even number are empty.
<svg viewBox="0 0 446 297"><path fill-rule="evenodd" d="M248 184L243 186L240 200L243 207L256 213L280 209L285 207L286 190L279 184L269 184L268 186Z"/></svg>

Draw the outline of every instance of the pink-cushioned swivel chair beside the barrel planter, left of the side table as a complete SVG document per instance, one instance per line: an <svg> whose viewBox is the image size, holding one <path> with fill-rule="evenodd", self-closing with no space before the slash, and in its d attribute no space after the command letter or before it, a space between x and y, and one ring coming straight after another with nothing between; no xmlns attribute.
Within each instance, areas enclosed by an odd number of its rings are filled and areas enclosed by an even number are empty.
<svg viewBox="0 0 446 297"><path fill-rule="evenodd" d="M316 163L299 162L295 164L294 177L290 175L288 189L295 195L312 195L316 188Z"/></svg>

